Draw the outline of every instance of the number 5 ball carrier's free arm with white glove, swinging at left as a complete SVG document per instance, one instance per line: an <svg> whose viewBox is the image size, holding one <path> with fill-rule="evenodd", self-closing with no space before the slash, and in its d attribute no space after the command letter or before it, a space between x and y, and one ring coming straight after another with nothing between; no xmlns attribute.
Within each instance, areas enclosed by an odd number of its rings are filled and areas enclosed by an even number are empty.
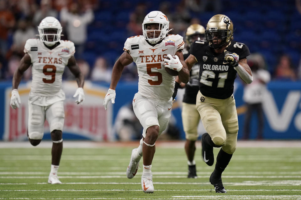
<svg viewBox="0 0 301 200"><path fill-rule="evenodd" d="M115 62L114 66L113 66L113 70L112 70L112 78L111 78L110 88L108 89L108 92L103 100L104 109L107 110L107 106L108 106L108 103L110 100L112 103L115 103L115 97L116 97L115 88L121 77L123 68L124 68L124 66L127 66L130 63L132 63L133 61L134 60L131 57L131 55L129 55L128 52L124 52L121 54L121 56Z"/></svg>

